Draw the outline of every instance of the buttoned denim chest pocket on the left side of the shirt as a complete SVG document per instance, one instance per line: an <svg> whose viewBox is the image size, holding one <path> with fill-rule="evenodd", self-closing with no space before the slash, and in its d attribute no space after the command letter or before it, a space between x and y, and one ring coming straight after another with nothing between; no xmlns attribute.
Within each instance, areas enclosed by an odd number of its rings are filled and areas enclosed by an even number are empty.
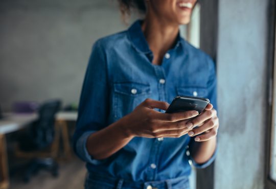
<svg viewBox="0 0 276 189"><path fill-rule="evenodd" d="M114 83L113 85L113 115L120 119L124 115L132 112L136 106L151 97L149 84L143 83Z"/></svg>

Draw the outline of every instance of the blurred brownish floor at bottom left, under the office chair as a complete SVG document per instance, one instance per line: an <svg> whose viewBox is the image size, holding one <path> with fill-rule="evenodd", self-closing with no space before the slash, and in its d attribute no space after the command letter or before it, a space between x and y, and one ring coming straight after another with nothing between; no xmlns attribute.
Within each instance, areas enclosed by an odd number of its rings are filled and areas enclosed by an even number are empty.
<svg viewBox="0 0 276 189"><path fill-rule="evenodd" d="M11 189L78 189L84 188L84 178L86 174L85 163L73 157L67 162L59 162L59 177L54 178L49 172L40 171L36 176L31 178L29 183L24 183L22 178L14 176L10 178Z"/></svg>

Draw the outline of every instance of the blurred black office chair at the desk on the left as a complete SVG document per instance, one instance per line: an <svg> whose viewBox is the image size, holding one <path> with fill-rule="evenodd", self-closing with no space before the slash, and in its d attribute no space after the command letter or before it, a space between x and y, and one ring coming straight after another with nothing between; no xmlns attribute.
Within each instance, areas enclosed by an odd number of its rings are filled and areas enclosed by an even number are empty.
<svg viewBox="0 0 276 189"><path fill-rule="evenodd" d="M25 182L29 182L31 176L40 169L49 170L53 176L58 176L58 163L55 161L55 156L58 151L59 133L56 133L55 114L60 106L60 100L43 103L39 108L38 120L19 136L16 156L32 158L24 175Z"/></svg>

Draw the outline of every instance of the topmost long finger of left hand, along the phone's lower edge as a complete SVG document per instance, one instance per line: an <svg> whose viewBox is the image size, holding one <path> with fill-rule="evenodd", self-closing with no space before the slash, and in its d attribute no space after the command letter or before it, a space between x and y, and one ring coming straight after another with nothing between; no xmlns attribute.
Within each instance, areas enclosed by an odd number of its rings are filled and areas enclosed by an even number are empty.
<svg viewBox="0 0 276 189"><path fill-rule="evenodd" d="M163 122L177 122L181 120L187 120L198 115L198 111L183 111L177 113L156 113L156 119Z"/></svg>

